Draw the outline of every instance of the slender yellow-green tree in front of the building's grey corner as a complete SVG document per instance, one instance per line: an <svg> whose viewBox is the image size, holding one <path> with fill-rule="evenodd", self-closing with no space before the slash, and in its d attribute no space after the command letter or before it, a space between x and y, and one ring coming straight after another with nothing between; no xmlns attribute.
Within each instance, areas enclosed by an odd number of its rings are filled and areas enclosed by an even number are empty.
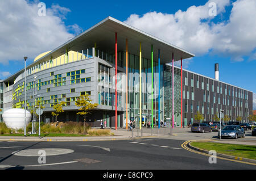
<svg viewBox="0 0 256 181"><path fill-rule="evenodd" d="M79 112L77 112L77 115L84 116L84 134L85 134L85 121L86 121L86 115L88 113L92 112L97 106L97 103L92 104L92 99L90 99L89 94L81 95L77 100L76 100L76 106L80 107Z"/></svg>

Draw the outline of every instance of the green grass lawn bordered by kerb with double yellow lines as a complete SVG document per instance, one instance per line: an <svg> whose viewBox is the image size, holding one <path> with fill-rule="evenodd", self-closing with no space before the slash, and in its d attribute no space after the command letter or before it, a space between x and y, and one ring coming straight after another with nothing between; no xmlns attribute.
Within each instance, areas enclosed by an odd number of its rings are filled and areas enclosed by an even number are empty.
<svg viewBox="0 0 256 181"><path fill-rule="evenodd" d="M256 146L220 144L215 142L192 142L191 145L204 150L216 150L217 153L235 157L256 159Z"/></svg>

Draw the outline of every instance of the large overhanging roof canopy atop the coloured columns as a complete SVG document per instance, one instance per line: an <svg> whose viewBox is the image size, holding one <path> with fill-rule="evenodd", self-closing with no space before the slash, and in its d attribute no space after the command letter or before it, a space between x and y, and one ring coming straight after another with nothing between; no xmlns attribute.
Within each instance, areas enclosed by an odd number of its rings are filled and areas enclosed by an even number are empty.
<svg viewBox="0 0 256 181"><path fill-rule="evenodd" d="M195 56L175 45L160 40L157 37L149 35L137 28L131 27L128 24L120 22L117 19L108 17L100 23L82 32L80 35L67 41L67 43L52 50L38 60L46 61L51 58L59 57L67 50L80 51L85 48L92 48L96 45L97 49L103 52L115 53L115 32L117 32L117 49L126 50L126 39L128 40L128 52L139 54L139 43L142 43L142 56L151 58L151 45L154 47L154 60L158 58L158 49L160 49L160 63L167 64L171 62L172 53L174 53L174 61L180 60L182 57L190 58Z"/></svg>

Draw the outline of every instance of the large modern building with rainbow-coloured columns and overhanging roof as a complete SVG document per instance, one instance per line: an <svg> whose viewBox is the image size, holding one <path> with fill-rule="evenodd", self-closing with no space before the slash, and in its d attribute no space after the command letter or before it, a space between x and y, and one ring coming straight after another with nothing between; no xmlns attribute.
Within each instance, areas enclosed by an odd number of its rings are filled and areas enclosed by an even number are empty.
<svg viewBox="0 0 256 181"><path fill-rule="evenodd" d="M3 111L24 108L26 89L27 110L40 100L43 120L53 121L52 107L64 101L58 120L81 121L75 101L89 94L99 104L86 118L93 127L99 127L100 120L114 128L125 127L127 120L135 120L137 126L147 120L181 126L193 122L197 111L208 121L220 110L232 120L241 116L246 121L253 92L172 66L193 56L108 17L36 57L26 67L26 85L24 69L3 80Z"/></svg>

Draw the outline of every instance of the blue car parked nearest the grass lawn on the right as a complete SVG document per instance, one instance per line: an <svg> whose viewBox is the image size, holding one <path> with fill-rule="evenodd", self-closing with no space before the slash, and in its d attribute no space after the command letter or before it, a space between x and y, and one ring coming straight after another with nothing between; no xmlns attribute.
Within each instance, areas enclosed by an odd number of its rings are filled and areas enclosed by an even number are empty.
<svg viewBox="0 0 256 181"><path fill-rule="evenodd" d="M218 137L220 137L220 132L218 132ZM245 131L239 125L228 125L221 130L221 137L237 139L245 137Z"/></svg>

